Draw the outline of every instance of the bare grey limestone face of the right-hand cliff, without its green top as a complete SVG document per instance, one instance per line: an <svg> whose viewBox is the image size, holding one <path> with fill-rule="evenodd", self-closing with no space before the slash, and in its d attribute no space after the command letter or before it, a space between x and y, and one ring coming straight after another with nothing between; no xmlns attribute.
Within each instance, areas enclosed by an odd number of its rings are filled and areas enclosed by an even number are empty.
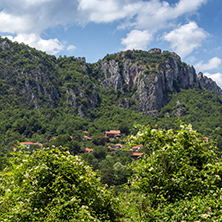
<svg viewBox="0 0 222 222"><path fill-rule="evenodd" d="M159 53L161 56L160 49L152 49L148 53ZM170 53L160 64L153 65L154 68L120 54L117 57L118 59L104 59L101 62L105 78L100 85L102 88L113 87L121 91L124 85L128 88L136 86L132 99L136 102L136 110L144 114L150 115L150 111L165 106L169 93L179 92L180 88L199 86L194 68L182 63L176 53Z"/></svg>

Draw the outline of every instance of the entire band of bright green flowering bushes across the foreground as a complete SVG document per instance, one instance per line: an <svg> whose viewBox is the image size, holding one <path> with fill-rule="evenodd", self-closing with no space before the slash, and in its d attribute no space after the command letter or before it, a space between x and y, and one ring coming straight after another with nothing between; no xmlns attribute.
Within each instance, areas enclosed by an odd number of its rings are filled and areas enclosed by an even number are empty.
<svg viewBox="0 0 222 222"><path fill-rule="evenodd" d="M191 125L177 127L137 126L128 141L145 154L118 192L66 149L19 148L0 176L1 220L221 221L218 149Z"/></svg>

